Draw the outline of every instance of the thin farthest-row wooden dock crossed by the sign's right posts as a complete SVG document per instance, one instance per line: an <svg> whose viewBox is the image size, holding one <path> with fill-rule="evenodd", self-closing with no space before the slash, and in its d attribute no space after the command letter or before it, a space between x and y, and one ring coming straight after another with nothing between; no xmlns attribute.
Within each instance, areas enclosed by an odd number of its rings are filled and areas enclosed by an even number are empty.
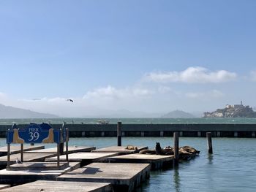
<svg viewBox="0 0 256 192"><path fill-rule="evenodd" d="M95 150L95 147L69 146L69 154L78 152L90 152L91 150ZM46 148L42 150L31 150L28 151L28 153L57 153L57 147ZM66 147L64 147L64 153L66 153Z"/></svg>

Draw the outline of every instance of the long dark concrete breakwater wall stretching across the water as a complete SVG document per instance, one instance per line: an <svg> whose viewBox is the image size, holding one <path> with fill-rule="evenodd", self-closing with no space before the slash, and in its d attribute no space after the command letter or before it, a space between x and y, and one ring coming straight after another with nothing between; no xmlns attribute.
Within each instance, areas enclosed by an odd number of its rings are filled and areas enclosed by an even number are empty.
<svg viewBox="0 0 256 192"><path fill-rule="evenodd" d="M18 125L19 128L28 125ZM60 128L61 124L52 124ZM12 125L0 125L0 137L6 137L6 131ZM116 137L117 124L67 124L69 137ZM122 137L173 137L178 131L180 137L247 137L255 138L256 124L122 124Z"/></svg>

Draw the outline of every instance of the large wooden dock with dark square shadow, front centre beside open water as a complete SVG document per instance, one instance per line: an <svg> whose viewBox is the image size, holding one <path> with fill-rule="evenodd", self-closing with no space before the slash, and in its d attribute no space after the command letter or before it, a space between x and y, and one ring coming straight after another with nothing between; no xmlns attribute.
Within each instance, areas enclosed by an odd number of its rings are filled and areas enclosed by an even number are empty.
<svg viewBox="0 0 256 192"><path fill-rule="evenodd" d="M57 177L61 181L107 182L114 191L133 191L150 174L150 164L93 163Z"/></svg>

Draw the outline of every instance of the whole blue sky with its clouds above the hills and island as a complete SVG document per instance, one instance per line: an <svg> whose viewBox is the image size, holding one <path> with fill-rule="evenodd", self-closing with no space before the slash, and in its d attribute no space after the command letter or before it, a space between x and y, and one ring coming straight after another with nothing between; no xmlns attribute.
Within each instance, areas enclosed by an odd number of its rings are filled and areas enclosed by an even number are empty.
<svg viewBox="0 0 256 192"><path fill-rule="evenodd" d="M256 107L255 9L249 0L0 1L0 104L70 117Z"/></svg>

